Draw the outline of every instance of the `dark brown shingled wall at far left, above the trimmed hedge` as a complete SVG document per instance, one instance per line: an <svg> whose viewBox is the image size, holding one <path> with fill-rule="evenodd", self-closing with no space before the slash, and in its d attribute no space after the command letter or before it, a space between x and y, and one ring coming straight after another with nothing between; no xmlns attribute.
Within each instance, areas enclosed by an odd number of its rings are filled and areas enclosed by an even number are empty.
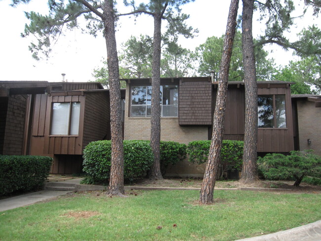
<svg viewBox="0 0 321 241"><path fill-rule="evenodd" d="M5 132L3 137L3 155L22 155L26 114L25 95L8 97Z"/></svg>

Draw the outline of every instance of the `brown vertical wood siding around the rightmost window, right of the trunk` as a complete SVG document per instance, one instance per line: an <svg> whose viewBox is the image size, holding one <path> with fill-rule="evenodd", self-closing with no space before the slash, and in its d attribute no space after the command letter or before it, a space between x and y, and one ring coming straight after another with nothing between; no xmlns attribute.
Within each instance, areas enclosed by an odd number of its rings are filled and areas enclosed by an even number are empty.
<svg viewBox="0 0 321 241"><path fill-rule="evenodd" d="M258 128L257 152L289 152L294 150L290 86L258 88L258 95L278 94L285 95L286 128Z"/></svg>

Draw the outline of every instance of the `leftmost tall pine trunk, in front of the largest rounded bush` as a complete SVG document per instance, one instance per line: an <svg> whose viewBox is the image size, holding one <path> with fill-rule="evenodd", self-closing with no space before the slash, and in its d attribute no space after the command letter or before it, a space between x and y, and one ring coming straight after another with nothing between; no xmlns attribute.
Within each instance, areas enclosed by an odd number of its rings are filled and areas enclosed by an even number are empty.
<svg viewBox="0 0 321 241"><path fill-rule="evenodd" d="M112 136L112 161L107 194L122 196L124 194L123 144L121 130L120 80L115 37L115 14L113 9L113 0L105 0L104 25L110 83L110 124Z"/></svg>

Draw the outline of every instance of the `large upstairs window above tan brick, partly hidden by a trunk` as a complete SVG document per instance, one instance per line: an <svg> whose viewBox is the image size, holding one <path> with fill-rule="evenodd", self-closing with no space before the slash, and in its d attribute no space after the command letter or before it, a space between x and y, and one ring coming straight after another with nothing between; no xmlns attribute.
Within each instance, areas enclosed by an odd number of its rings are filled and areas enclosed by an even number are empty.
<svg viewBox="0 0 321 241"><path fill-rule="evenodd" d="M131 87L131 117L150 117L152 86ZM162 85L160 89L161 117L178 116L177 85Z"/></svg>

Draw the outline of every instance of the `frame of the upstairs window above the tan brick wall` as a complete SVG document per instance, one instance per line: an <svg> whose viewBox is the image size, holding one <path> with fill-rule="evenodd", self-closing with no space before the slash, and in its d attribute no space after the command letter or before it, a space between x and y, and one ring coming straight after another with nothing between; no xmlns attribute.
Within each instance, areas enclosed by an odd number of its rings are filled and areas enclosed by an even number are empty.
<svg viewBox="0 0 321 241"><path fill-rule="evenodd" d="M147 100L147 93L148 93L148 90L147 88L148 87L152 87L151 85L131 85L130 86L130 108L129 108L129 115L128 117L129 118L151 118L151 116L147 116L147 107L151 107L151 104L147 104L148 100ZM160 105L161 105L161 118L178 118L178 105L179 105L179 98L177 96L177 105L165 105L165 106L176 106L177 107L177 115L176 116L169 116L169 117L166 117L166 116L163 116L163 104L162 104L162 101L163 101L163 86L173 86L173 87L176 87L177 89L177 94L179 93L179 85L178 84L163 84L160 86L160 91L161 91L161 95L160 95ZM145 99L145 104L132 104L132 88L134 87L146 87L146 99ZM145 116L132 116L132 106L144 106L145 107Z"/></svg>

